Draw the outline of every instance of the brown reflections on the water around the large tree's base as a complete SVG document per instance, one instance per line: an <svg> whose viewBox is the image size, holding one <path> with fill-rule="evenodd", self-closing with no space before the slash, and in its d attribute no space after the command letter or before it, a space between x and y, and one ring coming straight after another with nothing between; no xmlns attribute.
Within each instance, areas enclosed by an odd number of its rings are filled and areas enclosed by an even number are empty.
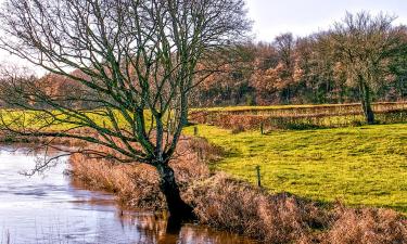
<svg viewBox="0 0 407 244"><path fill-rule="evenodd" d="M137 243L156 244L254 244L255 242L242 239L236 234L214 231L211 228L183 224L174 233L167 231L167 218L164 214L142 214L133 211L119 213L123 224L131 224L140 233ZM174 230L173 230L174 231Z"/></svg>

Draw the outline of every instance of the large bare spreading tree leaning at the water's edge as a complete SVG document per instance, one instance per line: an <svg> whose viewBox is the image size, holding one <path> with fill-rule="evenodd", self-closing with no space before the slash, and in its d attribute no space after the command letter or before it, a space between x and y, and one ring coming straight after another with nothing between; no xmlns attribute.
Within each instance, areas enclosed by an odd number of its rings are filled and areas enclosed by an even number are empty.
<svg viewBox="0 0 407 244"><path fill-rule="evenodd" d="M75 153L149 164L170 215L188 217L168 162L188 119L189 94L213 72L200 64L243 40L251 26L245 16L243 0L7 0L0 47L78 86L59 94L33 79L9 79L4 102L28 115L3 111L2 129L81 140L110 150ZM66 105L74 101L92 110Z"/></svg>

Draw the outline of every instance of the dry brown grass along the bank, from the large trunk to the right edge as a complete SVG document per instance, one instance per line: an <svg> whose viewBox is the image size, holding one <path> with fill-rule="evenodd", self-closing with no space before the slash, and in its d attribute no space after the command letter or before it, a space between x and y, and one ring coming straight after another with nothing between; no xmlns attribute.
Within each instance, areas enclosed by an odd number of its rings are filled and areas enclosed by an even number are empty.
<svg viewBox="0 0 407 244"><path fill-rule="evenodd" d="M187 195L203 223L265 243L407 243L406 220L389 209L323 207L222 174L196 182Z"/></svg>

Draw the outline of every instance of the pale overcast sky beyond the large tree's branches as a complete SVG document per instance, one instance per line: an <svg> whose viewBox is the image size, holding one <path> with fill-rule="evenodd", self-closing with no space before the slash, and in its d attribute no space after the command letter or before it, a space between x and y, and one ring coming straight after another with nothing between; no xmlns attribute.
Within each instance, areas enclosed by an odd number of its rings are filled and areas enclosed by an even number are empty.
<svg viewBox="0 0 407 244"><path fill-rule="evenodd" d="M384 12L398 16L396 24L407 25L407 0L245 0L249 16L254 21L253 33L257 41L271 42L282 33L307 36L329 28L341 21L345 12L361 10L372 14ZM0 0L2 3L3 0ZM25 64L0 51L0 62ZM38 69L37 69L38 70Z"/></svg>

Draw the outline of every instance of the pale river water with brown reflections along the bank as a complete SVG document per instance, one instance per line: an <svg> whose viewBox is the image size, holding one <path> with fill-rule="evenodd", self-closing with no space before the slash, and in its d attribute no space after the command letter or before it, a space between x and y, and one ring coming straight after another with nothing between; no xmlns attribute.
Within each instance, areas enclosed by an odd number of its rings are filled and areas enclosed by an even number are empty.
<svg viewBox="0 0 407 244"><path fill-rule="evenodd" d="M122 210L111 194L73 183L63 174L66 158L44 175L22 175L36 158L0 147L0 244L254 243L196 224L167 234L152 213Z"/></svg>

